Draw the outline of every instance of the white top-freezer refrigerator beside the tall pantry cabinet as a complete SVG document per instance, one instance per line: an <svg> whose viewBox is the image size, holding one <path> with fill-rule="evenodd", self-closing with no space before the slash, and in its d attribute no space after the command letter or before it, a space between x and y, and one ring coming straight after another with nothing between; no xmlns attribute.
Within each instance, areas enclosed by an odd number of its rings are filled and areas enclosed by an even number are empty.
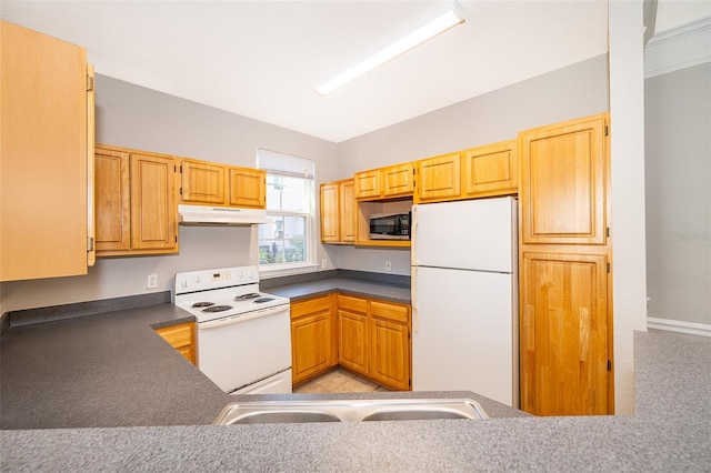
<svg viewBox="0 0 711 473"><path fill-rule="evenodd" d="M412 207L412 389L519 405L517 200Z"/></svg>

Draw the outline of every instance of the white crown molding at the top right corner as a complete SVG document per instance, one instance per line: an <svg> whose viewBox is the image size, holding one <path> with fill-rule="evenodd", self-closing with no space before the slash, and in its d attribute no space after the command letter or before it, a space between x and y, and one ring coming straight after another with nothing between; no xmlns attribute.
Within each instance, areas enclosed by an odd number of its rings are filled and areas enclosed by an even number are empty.
<svg viewBox="0 0 711 473"><path fill-rule="evenodd" d="M711 16L658 32L644 48L644 79L711 62Z"/></svg>

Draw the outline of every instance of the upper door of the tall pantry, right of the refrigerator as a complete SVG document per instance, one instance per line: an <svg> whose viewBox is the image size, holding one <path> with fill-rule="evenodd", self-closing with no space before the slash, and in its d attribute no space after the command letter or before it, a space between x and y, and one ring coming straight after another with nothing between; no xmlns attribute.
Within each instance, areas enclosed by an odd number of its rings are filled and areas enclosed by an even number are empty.
<svg viewBox="0 0 711 473"><path fill-rule="evenodd" d="M605 244L607 114L521 132L522 243Z"/></svg>

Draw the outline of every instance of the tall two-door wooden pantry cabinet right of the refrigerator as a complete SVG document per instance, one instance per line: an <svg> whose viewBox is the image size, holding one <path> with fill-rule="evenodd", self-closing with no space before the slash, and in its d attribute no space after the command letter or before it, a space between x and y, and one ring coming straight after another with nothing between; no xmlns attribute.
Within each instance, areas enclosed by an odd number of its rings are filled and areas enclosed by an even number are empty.
<svg viewBox="0 0 711 473"><path fill-rule="evenodd" d="M609 114L519 144L521 409L612 414Z"/></svg>

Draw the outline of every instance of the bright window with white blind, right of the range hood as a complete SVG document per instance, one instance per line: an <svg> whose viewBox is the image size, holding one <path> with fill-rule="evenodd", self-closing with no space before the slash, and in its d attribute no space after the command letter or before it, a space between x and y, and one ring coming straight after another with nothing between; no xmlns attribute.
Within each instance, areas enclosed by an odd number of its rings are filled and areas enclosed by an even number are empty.
<svg viewBox="0 0 711 473"><path fill-rule="evenodd" d="M316 264L313 161L259 149L257 167L267 171L267 214L274 220L259 225L260 269Z"/></svg>

